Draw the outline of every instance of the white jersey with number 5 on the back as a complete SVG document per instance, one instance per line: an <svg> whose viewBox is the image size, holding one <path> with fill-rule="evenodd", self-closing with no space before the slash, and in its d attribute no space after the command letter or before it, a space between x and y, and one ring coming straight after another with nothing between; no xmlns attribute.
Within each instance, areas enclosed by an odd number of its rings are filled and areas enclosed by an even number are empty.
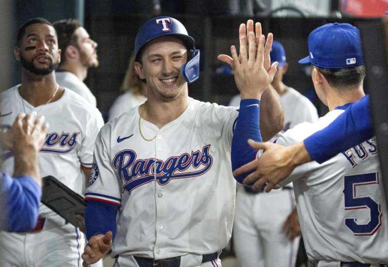
<svg viewBox="0 0 388 267"><path fill-rule="evenodd" d="M276 143L302 141L342 112L333 110L318 123L295 126ZM382 178L372 138L322 164L303 164L280 184L293 181L307 255L311 261L321 261L318 267L327 266L327 262L339 266L339 261L376 267L388 264L388 217Z"/></svg>

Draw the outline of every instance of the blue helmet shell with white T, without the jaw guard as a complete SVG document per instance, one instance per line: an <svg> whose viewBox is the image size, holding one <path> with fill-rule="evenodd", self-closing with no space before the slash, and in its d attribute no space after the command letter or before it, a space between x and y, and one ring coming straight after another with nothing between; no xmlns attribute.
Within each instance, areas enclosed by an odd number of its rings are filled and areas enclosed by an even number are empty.
<svg viewBox="0 0 388 267"><path fill-rule="evenodd" d="M178 19L170 16L151 18L140 27L135 39L135 60L139 60L139 52L149 41L164 35L179 37L188 49L194 48L194 39L189 36L186 28Z"/></svg>

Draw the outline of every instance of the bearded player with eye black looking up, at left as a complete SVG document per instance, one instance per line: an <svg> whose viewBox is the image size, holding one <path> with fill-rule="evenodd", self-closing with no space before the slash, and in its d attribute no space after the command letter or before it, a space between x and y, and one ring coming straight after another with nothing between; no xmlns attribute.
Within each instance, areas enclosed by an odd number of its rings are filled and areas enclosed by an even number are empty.
<svg viewBox="0 0 388 267"><path fill-rule="evenodd" d="M50 126L39 153L41 174L83 194L101 115L80 95L56 83L60 50L55 29L46 19L31 19L19 29L15 58L22 65L22 83L0 95L1 129L7 131L19 112L44 115ZM12 153L2 150L2 159L1 171L12 174ZM32 232L0 233L1 266L77 267L83 241L78 227L41 204Z"/></svg>

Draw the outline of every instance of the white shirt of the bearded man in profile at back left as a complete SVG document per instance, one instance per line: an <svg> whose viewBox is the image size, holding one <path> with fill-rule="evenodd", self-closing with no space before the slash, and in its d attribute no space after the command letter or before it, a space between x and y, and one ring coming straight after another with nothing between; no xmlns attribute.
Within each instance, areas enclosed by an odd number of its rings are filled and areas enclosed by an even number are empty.
<svg viewBox="0 0 388 267"><path fill-rule="evenodd" d="M71 91L81 95L90 105L97 108L96 97L90 89L77 76L69 71L55 71L55 78L59 85L69 88Z"/></svg>

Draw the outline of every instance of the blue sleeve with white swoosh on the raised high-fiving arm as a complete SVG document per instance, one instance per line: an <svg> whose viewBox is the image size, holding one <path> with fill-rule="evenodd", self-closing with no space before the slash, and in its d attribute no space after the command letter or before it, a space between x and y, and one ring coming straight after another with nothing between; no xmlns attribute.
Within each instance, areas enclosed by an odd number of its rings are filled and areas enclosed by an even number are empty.
<svg viewBox="0 0 388 267"><path fill-rule="evenodd" d="M260 101L257 99L243 99L240 102L239 116L233 132L231 161L232 170L252 161L256 157L257 150L250 147L248 139L262 142L259 128ZM234 177L237 182L249 173Z"/></svg>

